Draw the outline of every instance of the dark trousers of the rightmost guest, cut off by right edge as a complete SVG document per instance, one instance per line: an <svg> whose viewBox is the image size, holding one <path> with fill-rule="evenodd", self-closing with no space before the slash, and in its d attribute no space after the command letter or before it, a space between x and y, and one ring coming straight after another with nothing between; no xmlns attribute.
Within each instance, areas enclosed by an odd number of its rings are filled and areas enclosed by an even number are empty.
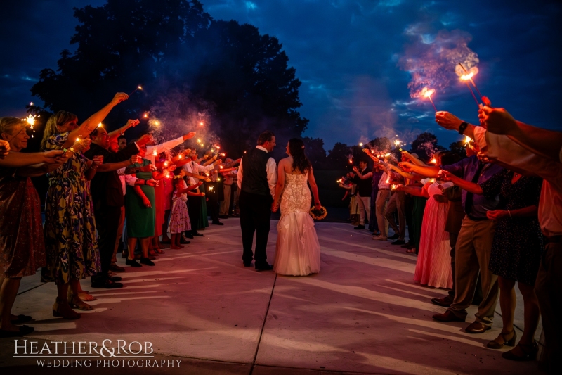
<svg viewBox="0 0 562 375"><path fill-rule="evenodd" d="M544 333L542 359L549 374L562 373L562 243L549 243L542 254L535 294Z"/></svg>

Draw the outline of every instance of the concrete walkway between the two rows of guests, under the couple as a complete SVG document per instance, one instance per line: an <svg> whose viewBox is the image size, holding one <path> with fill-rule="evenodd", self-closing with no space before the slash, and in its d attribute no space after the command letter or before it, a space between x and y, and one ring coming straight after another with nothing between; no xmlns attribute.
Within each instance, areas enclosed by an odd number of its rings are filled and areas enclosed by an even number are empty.
<svg viewBox="0 0 562 375"><path fill-rule="evenodd" d="M317 223L322 269L281 277L242 265L239 220L211 225L183 250L166 249L156 267L126 267L124 288L83 288L97 300L81 319L55 318L55 286L22 282L15 314L34 317L39 341L150 341L155 359L181 367L112 367L104 374L530 374L534 362L504 360L485 348L501 330L470 335L467 323L442 324L430 299L446 291L414 284L415 256L390 241L372 241L349 224ZM277 222L268 259L273 262ZM119 258L124 265L124 260ZM518 331L521 336L521 331ZM0 340L2 374L99 374L99 368L39 368L13 358L13 339ZM505 350L507 350L506 348ZM8 366L8 368L6 368Z"/></svg>

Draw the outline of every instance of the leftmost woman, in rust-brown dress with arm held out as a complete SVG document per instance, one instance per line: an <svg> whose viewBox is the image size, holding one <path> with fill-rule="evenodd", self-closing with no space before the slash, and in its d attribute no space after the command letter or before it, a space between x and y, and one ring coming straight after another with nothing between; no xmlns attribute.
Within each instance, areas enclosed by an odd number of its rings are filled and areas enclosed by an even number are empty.
<svg viewBox="0 0 562 375"><path fill-rule="evenodd" d="M18 154L27 147L30 136L26 123L15 117L0 117L0 139L5 149ZM32 317L11 314L22 277L35 274L46 265L41 201L30 177L51 172L65 163L38 163L18 168L0 168L0 337L22 336L34 331L16 326Z"/></svg>

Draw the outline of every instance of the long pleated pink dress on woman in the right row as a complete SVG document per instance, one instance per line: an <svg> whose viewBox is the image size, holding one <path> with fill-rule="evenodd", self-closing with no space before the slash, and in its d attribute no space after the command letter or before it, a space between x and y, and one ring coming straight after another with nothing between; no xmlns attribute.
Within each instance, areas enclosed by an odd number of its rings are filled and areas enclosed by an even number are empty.
<svg viewBox="0 0 562 375"><path fill-rule="evenodd" d="M433 196L442 194L439 184L426 184L429 193L424 220L421 224L421 239L417 255L414 281L436 288L452 288L451 246L449 234L445 231L447 203L439 203ZM443 188L452 183L441 184Z"/></svg>

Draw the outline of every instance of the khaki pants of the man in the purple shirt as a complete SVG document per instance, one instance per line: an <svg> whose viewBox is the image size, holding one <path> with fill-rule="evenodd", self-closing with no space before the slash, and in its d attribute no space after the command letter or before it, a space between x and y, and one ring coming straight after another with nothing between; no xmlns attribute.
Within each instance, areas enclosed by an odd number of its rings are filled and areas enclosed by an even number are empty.
<svg viewBox="0 0 562 375"><path fill-rule="evenodd" d="M476 222L465 216L455 248L455 300L449 310L457 317L466 318L476 291L480 273L483 300L478 305L476 321L492 325L499 288L497 276L488 269L496 225L492 220Z"/></svg>

